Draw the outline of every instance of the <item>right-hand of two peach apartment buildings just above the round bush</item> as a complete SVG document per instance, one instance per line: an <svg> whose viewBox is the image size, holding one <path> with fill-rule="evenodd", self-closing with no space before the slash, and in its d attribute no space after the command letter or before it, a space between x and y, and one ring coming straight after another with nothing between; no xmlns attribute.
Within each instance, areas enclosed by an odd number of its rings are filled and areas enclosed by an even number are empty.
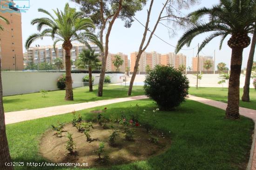
<svg viewBox="0 0 256 170"><path fill-rule="evenodd" d="M176 54L174 52L169 52L168 54L163 54L161 56L161 64L162 65L170 65L175 69L178 69L180 65L184 65L186 67L187 60L186 56L183 54Z"/></svg>

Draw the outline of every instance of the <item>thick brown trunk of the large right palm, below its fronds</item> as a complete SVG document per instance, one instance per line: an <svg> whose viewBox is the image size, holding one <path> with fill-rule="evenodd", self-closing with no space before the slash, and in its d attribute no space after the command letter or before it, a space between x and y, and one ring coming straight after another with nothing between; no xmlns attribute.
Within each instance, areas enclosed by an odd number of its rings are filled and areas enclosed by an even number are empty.
<svg viewBox="0 0 256 170"><path fill-rule="evenodd" d="M239 119L239 88L243 60L243 48L233 48L229 77L228 107L226 118Z"/></svg>

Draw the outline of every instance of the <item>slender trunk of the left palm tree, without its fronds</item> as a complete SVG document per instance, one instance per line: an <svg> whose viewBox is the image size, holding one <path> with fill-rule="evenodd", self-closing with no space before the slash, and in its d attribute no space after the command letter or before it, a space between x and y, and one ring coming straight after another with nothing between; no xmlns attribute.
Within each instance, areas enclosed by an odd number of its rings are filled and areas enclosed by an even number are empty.
<svg viewBox="0 0 256 170"><path fill-rule="evenodd" d="M66 101L73 101L73 88L71 77L71 61L70 61L70 49L65 49L65 63L66 63Z"/></svg>

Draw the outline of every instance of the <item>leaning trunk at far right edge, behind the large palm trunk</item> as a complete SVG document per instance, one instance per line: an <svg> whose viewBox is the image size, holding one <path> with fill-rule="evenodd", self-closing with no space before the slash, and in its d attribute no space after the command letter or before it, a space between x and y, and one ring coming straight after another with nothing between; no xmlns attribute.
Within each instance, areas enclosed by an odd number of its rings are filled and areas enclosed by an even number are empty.
<svg viewBox="0 0 256 170"><path fill-rule="evenodd" d="M247 102L250 101L250 96L249 96L250 79L251 79L251 69L252 69L252 64L253 64L255 46L256 46L256 30L254 31L252 41L251 41L251 49L250 49L249 58L248 58L248 62L247 62L245 82L244 82L244 86L243 86L242 101L247 101Z"/></svg>

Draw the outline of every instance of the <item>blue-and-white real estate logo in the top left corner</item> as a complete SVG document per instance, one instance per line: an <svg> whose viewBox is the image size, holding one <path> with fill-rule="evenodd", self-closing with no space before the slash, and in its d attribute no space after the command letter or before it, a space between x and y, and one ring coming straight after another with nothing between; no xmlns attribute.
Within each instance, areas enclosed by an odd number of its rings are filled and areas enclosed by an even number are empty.
<svg viewBox="0 0 256 170"><path fill-rule="evenodd" d="M29 0L0 0L3 13L26 13L30 8Z"/></svg>

